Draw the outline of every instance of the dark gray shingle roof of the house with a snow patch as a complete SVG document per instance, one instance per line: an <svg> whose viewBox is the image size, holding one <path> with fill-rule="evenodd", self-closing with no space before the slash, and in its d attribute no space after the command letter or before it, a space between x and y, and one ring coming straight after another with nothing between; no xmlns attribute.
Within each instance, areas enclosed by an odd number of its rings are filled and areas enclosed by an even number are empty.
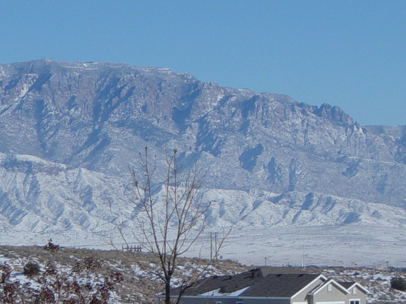
<svg viewBox="0 0 406 304"><path fill-rule="evenodd" d="M266 273L266 272L265 272ZM197 281L184 295L199 295L220 289L220 293L230 293L249 287L239 296L248 297L291 297L319 275L315 274L266 274L260 268L234 276L213 276ZM172 294L178 294L174 288Z"/></svg>

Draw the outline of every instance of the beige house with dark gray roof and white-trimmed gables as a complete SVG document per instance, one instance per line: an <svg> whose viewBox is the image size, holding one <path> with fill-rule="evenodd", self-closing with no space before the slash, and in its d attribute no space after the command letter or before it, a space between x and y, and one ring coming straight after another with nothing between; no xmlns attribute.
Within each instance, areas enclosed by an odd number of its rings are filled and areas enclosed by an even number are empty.
<svg viewBox="0 0 406 304"><path fill-rule="evenodd" d="M186 289L183 304L365 304L368 290L320 274L275 274L265 268L212 276ZM179 288L171 291L177 297ZM164 297L162 294L158 297Z"/></svg>

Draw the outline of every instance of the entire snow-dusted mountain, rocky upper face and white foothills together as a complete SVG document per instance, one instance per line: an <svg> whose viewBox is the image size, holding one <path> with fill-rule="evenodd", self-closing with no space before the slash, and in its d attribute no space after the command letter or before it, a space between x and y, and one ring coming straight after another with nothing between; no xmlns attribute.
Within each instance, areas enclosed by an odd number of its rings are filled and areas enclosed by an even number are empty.
<svg viewBox="0 0 406 304"><path fill-rule="evenodd" d="M140 169L144 146L160 168L166 147L184 168L197 160L207 169L213 230L403 226L405 138L404 127L362 127L336 106L165 68L3 64L0 234L21 243L52 232L104 238L113 230L109 199L131 225L127 168Z"/></svg>

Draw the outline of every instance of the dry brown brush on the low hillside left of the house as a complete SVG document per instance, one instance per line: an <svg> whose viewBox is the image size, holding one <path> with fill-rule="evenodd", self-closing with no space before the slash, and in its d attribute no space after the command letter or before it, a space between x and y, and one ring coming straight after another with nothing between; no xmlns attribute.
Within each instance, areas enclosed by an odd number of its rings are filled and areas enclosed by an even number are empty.
<svg viewBox="0 0 406 304"><path fill-rule="evenodd" d="M70 269L75 267L79 260L87 256L93 256L100 261L98 270L100 276L113 272L121 272L123 281L115 286L117 295L123 303L152 303L156 302L154 294L163 292L162 283L148 273L142 273L137 263L133 260L133 254L137 254L139 261L145 267L149 264L157 264L159 260L153 254L130 253L117 250L94 250L78 248L60 248L57 253L44 250L43 246L0 246L0 257L7 259L12 268L12 275L22 273L23 267L28 261L39 263L44 269L45 263L51 260L59 269ZM176 273L181 279L186 279L190 270L201 267L207 260L197 258L178 258L178 268L182 271ZM213 262L212 268L208 269L206 276L211 274L235 274L247 270L247 267L230 261L217 260Z"/></svg>

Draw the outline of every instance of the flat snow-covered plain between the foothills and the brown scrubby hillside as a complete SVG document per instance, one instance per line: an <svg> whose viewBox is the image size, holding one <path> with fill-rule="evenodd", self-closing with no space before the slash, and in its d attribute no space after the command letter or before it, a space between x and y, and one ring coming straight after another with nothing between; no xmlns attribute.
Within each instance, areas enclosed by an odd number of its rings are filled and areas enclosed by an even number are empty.
<svg viewBox="0 0 406 304"><path fill-rule="evenodd" d="M221 249L223 259L238 260L247 265L306 265L345 267L406 267L406 232L402 227L382 226L296 226L267 230L233 230ZM214 231L213 231L214 232ZM0 233L4 245L44 245L49 238L61 246L112 249L122 241L113 230L100 235L84 236L83 232L66 234L32 234L13 230ZM210 231L200 236L188 252L189 257L210 257ZM128 236L127 240L131 240ZM214 245L213 245L214 246ZM388 263L387 263L388 261Z"/></svg>

